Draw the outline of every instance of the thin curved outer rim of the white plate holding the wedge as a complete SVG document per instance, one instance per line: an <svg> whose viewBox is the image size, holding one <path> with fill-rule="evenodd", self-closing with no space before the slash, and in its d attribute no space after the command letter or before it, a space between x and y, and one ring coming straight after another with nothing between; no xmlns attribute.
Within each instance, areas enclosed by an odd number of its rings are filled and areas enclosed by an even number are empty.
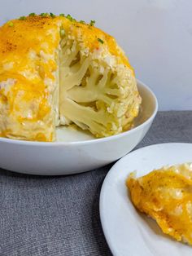
<svg viewBox="0 0 192 256"><path fill-rule="evenodd" d="M143 148L153 148L153 147L156 147L156 146L161 147L161 146L164 146L164 145L166 146L166 145L170 145L170 144L172 144L172 145L189 145L190 144L192 146L192 143L178 142L178 143L155 143L155 144L148 145L146 147L137 148L137 149L133 150L132 152L129 152L124 157L120 158L120 160L116 161L115 165L113 165L111 167L111 169L107 172L107 175L106 175L106 177L103 181L100 196L99 196L99 217L100 217L100 221L101 221L101 224L102 224L103 233L104 233L105 239L107 241L107 245L109 246L109 249L111 250L111 253L114 256L120 256L120 254L119 254L119 251L116 250L116 246L114 246L114 244L111 242L111 238L109 236L109 233L107 232L107 227L106 227L106 224L105 224L104 219L103 219L103 216L104 216L104 214L103 214L104 213L104 210L103 210L103 208L104 208L103 207L103 205L104 205L104 192L105 192L105 188L106 188L107 183L108 183L108 179L111 178L111 175L116 170L116 166L118 166L121 161L124 161L124 158L129 157L132 153L142 151Z"/></svg>

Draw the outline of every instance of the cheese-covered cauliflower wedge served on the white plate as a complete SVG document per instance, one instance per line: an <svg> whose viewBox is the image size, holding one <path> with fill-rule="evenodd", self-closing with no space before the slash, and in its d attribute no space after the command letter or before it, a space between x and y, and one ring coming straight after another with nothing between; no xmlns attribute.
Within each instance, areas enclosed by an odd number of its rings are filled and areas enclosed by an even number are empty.
<svg viewBox="0 0 192 256"><path fill-rule="evenodd" d="M162 231L192 245L192 164L164 167L127 179L133 205L156 220Z"/></svg>

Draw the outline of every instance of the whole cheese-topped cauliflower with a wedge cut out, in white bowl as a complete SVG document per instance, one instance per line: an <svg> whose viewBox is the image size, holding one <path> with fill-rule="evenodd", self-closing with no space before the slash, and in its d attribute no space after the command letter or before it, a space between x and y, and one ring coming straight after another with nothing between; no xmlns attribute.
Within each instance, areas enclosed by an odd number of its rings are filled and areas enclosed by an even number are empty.
<svg viewBox="0 0 192 256"><path fill-rule="evenodd" d="M141 98L115 38L70 15L29 15L0 28L0 136L54 141L76 124L96 137L133 126Z"/></svg>

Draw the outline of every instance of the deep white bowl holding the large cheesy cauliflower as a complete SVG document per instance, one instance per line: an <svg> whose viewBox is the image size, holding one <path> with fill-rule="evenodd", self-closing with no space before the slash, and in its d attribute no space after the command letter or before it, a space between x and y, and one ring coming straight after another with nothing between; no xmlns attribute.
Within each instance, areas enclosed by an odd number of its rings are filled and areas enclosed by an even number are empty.
<svg viewBox="0 0 192 256"><path fill-rule="evenodd" d="M0 167L24 174L76 174L105 166L124 157L139 143L151 127L157 113L157 99L137 81L142 109L132 130L95 139L89 133L62 128L54 143L0 138Z"/></svg>

